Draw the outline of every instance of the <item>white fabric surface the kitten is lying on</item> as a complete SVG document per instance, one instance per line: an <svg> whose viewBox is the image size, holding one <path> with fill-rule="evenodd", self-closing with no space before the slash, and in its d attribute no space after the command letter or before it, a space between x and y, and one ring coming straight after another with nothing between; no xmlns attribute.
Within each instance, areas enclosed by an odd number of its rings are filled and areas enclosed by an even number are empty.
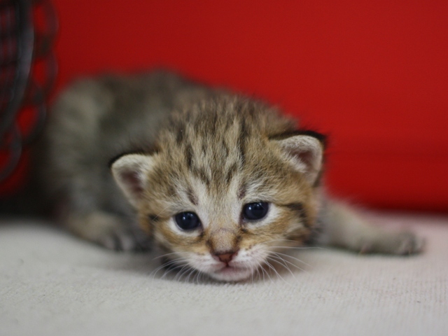
<svg viewBox="0 0 448 336"><path fill-rule="evenodd" d="M3 220L0 335L448 335L448 217L368 216L426 237L425 253L311 248L283 279L197 283L154 276L153 254Z"/></svg>

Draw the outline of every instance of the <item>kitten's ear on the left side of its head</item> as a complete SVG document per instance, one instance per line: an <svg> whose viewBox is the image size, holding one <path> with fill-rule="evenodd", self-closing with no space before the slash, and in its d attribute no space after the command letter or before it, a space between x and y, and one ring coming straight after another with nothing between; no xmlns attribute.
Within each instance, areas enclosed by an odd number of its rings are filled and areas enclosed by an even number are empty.
<svg viewBox="0 0 448 336"><path fill-rule="evenodd" d="M146 176L153 165L153 156L144 154L123 155L111 162L113 178L134 207L137 207L143 197Z"/></svg>

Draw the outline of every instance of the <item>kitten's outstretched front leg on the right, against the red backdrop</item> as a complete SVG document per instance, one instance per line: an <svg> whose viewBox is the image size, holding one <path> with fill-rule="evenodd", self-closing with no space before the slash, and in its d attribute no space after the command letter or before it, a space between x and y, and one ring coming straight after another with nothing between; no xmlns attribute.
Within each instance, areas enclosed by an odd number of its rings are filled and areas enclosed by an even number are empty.
<svg viewBox="0 0 448 336"><path fill-rule="evenodd" d="M390 231L366 223L350 207L327 201L319 221L323 232L318 242L360 253L412 254L423 248L423 239L412 232Z"/></svg>

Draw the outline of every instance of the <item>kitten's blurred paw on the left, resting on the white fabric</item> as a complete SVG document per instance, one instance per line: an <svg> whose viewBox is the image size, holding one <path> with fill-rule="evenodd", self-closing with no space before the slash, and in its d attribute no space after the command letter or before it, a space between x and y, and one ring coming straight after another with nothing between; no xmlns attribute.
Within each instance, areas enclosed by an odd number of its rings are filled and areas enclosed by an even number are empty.
<svg viewBox="0 0 448 336"><path fill-rule="evenodd" d="M104 211L69 214L64 225L78 237L116 251L142 251L150 248L150 239L143 230L125 223L123 218Z"/></svg>

